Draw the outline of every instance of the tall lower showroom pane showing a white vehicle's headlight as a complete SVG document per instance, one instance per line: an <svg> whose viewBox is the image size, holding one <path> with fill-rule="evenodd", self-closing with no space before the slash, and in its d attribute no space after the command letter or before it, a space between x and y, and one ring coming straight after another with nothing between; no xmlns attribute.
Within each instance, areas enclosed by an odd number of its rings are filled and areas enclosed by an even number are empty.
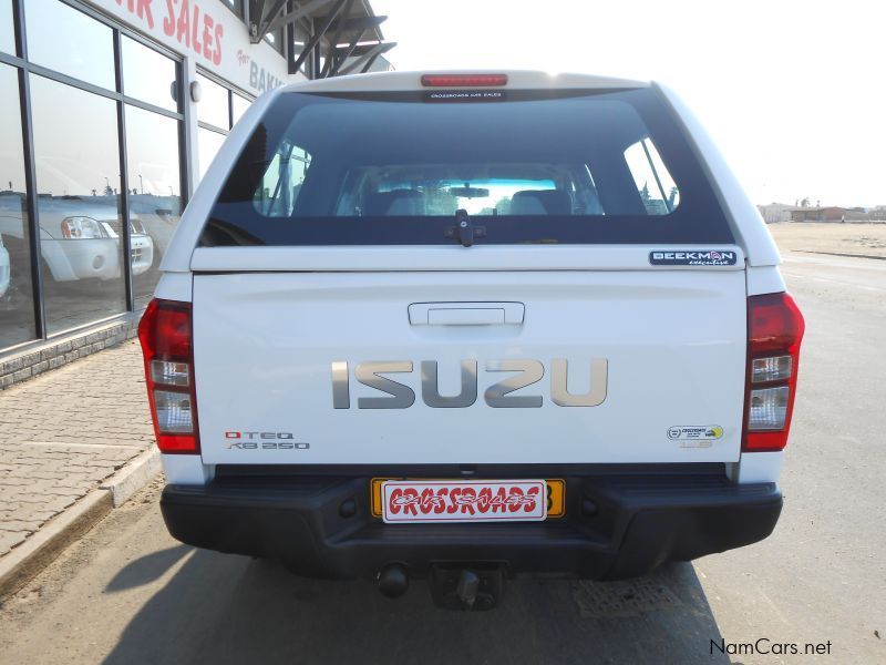
<svg viewBox="0 0 886 665"><path fill-rule="evenodd" d="M51 335L126 310L117 116L113 100L35 74L31 104Z"/></svg>

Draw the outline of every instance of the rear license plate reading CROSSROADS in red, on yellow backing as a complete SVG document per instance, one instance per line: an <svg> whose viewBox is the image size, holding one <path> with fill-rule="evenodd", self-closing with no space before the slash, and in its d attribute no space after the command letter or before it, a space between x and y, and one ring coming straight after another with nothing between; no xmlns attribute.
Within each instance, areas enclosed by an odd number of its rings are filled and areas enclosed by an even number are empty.
<svg viewBox="0 0 886 665"><path fill-rule="evenodd" d="M539 522L565 513L563 480L372 479L372 513L388 523Z"/></svg>

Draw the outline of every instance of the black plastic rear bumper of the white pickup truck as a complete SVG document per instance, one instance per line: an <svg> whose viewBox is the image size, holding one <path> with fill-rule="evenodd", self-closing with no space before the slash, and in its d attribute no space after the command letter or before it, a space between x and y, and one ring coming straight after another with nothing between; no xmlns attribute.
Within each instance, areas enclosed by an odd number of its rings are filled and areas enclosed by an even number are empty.
<svg viewBox="0 0 886 665"><path fill-rule="evenodd" d="M775 483L718 475L567 477L567 515L514 524L384 524L370 515L369 478L220 478L167 485L173 536L220 552L268 557L308 576L374 575L400 562L494 563L507 574L630 577L766 538L782 495ZM353 502L356 512L342 510ZM584 504L584 512L583 512ZM586 514L596 507L596 514Z"/></svg>

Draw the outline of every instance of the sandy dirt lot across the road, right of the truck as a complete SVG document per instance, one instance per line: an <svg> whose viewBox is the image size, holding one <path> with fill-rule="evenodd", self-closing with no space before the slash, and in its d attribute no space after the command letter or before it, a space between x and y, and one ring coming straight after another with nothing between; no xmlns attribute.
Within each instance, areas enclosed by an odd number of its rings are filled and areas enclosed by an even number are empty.
<svg viewBox="0 0 886 665"><path fill-rule="evenodd" d="M769 229L782 252L876 256L886 259L886 224L781 222Z"/></svg>

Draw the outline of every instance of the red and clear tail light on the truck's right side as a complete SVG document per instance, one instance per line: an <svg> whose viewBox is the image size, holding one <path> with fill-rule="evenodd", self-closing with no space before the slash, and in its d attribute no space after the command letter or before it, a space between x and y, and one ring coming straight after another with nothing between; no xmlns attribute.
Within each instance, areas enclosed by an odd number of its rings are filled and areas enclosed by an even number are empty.
<svg viewBox="0 0 886 665"><path fill-rule="evenodd" d="M804 329L803 315L790 295L748 299L745 452L782 450L787 444Z"/></svg>

